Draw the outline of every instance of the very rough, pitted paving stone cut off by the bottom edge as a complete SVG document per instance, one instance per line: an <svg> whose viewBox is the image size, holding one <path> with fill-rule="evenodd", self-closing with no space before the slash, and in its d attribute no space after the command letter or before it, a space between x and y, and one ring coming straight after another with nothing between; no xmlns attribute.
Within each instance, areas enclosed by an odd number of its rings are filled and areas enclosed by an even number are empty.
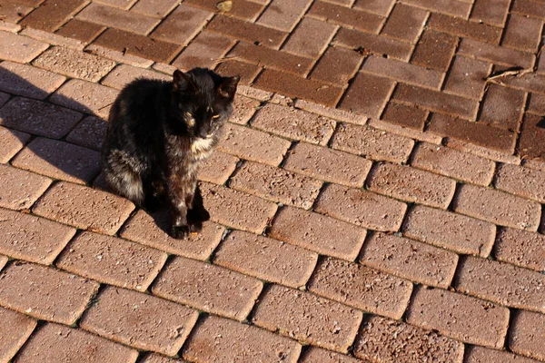
<svg viewBox="0 0 545 363"><path fill-rule="evenodd" d="M356 338L354 355L380 362L461 362L464 346L436 332L401 321L368 317Z"/></svg>

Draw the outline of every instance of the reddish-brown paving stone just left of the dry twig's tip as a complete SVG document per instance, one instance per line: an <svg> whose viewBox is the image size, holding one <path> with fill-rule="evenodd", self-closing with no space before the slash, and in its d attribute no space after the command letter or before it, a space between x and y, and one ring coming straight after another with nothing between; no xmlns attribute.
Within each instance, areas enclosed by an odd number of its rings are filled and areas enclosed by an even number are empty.
<svg viewBox="0 0 545 363"><path fill-rule="evenodd" d="M456 56L452 61L451 72L447 76L444 90L475 100L481 100L490 74L490 64L477 59Z"/></svg>

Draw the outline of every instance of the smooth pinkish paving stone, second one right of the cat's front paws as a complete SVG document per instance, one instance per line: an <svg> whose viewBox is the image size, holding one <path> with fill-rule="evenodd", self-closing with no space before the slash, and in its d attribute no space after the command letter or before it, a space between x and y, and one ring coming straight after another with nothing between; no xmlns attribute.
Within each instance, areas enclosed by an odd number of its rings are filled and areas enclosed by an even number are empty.
<svg viewBox="0 0 545 363"><path fill-rule="evenodd" d="M344 260L354 260L366 231L312 211L284 207L272 222L269 236Z"/></svg>

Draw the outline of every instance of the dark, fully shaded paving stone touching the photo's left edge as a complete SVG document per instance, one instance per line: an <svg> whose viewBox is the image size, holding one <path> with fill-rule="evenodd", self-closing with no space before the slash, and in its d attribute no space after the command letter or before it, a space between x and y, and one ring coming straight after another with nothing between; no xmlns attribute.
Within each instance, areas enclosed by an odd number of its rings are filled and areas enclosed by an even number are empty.
<svg viewBox="0 0 545 363"><path fill-rule="evenodd" d="M0 109L0 124L54 139L70 132L81 118L81 113L23 97L12 98Z"/></svg>

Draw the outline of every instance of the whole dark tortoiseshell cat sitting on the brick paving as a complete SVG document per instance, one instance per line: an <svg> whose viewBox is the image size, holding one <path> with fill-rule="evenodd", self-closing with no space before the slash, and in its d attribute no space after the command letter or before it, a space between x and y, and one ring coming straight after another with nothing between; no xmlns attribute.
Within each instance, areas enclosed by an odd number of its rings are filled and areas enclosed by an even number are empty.
<svg viewBox="0 0 545 363"><path fill-rule="evenodd" d="M148 210L171 210L170 235L201 231L209 218L197 188L223 123L233 112L238 77L195 68L175 71L173 82L129 83L115 100L103 147L106 182Z"/></svg>

